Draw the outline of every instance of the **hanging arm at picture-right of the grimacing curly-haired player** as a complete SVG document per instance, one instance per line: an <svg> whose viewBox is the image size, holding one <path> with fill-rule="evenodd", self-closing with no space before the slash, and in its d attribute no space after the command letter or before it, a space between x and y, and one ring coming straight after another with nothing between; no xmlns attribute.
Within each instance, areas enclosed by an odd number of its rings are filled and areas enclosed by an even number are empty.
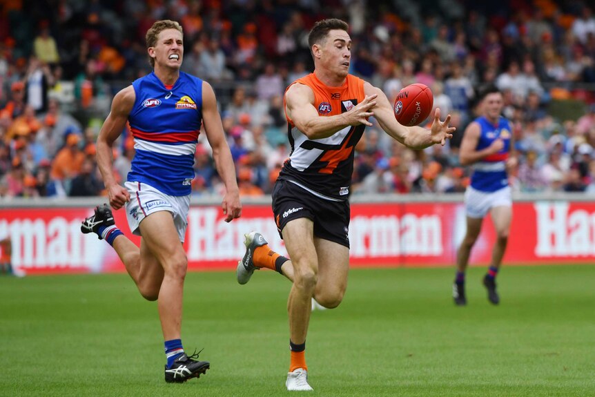
<svg viewBox="0 0 595 397"><path fill-rule="evenodd" d="M235 165L225 140L221 116L217 111L215 92L211 84L206 81L202 82L202 122L208 144L213 149L213 159L215 160L217 172L225 184L226 193L222 202L223 213L226 215L225 222L231 222L231 220L242 215L240 190L237 188Z"/></svg>

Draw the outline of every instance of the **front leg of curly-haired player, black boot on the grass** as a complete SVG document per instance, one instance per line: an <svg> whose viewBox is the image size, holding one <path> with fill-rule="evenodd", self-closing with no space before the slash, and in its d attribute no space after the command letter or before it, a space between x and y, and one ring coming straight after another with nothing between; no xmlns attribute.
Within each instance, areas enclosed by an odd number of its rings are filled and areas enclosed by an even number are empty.
<svg viewBox="0 0 595 397"><path fill-rule="evenodd" d="M162 278L161 286L157 289L157 309L168 359L165 380L182 383L204 374L210 366L206 361L195 361L195 357L187 356L182 347L182 300L188 268L186 251L180 242L173 213L150 213L139 226L143 236L142 253L145 254L146 247L146 255L152 255L162 266L162 272L153 267L143 266L142 269L147 279Z"/></svg>

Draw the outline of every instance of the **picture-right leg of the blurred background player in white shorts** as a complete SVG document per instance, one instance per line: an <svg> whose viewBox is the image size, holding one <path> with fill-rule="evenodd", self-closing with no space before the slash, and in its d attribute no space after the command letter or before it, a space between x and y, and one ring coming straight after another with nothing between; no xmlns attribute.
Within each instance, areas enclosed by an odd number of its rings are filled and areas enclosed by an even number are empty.
<svg viewBox="0 0 595 397"><path fill-rule="evenodd" d="M508 235L512 220L512 207L508 205L495 206L490 210L491 222L496 229L496 242L491 251L491 263L486 275L483 278L483 284L487 289L488 300L493 304L500 302L500 296L496 291L496 275L500 270L502 258L508 244Z"/></svg>

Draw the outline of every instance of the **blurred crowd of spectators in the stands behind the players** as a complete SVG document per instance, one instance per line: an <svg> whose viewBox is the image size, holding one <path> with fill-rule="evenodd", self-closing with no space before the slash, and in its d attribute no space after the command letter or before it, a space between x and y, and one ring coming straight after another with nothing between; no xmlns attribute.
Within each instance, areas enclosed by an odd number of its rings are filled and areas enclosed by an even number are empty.
<svg viewBox="0 0 595 397"><path fill-rule="evenodd" d="M157 19L182 24L182 70L217 92L241 194L270 193L289 157L282 96L312 70L306 37L324 17L349 22L353 74L383 88L391 101L408 84L426 84L434 107L450 113L458 128L446 146L425 151L367 128L354 194L465 191L471 169L460 166L458 146L486 84L503 91L504 115L514 125L514 191L595 192L595 16L587 3L30 3L0 5L0 197L102 194L94 142L113 95L150 72L144 33ZM564 101L574 112L554 115L552 104ZM133 139L124 133L114 152L119 180L126 180L133 156ZM202 136L195 170L195 195L220 193Z"/></svg>

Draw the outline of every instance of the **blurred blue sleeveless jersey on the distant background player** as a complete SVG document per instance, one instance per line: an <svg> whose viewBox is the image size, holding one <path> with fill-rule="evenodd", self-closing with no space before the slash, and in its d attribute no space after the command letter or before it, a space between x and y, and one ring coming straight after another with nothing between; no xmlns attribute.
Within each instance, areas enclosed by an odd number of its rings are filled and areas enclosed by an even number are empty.
<svg viewBox="0 0 595 397"><path fill-rule="evenodd" d="M480 137L476 150L480 151L491 145L494 140L500 138L504 142L504 148L473 164L473 175L471 175L471 187L478 191L494 192L508 186L508 175L505 162L510 151L510 139L512 126L505 117L498 119L498 125L491 124L485 117L478 117L474 120L480 125Z"/></svg>

